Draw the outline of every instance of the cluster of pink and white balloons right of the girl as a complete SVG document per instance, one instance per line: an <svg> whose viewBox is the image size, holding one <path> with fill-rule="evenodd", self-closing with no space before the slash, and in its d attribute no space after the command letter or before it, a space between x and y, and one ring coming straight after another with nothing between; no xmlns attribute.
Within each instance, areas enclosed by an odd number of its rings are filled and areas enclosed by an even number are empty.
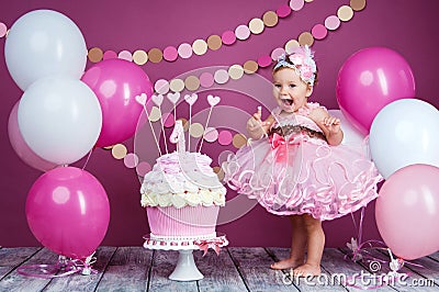
<svg viewBox="0 0 439 292"><path fill-rule="evenodd" d="M375 205L385 244L404 259L439 250L439 111L415 98L407 61L385 47L357 52L338 74L337 101L348 139L369 134L385 178Z"/></svg>

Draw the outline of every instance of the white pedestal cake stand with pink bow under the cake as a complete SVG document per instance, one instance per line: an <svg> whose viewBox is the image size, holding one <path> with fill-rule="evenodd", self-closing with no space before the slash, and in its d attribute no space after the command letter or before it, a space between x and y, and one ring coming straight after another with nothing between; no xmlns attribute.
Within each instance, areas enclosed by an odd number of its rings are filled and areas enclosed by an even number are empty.
<svg viewBox="0 0 439 292"><path fill-rule="evenodd" d="M144 236L144 239L145 248L179 251L177 266L168 277L175 281L195 281L204 278L196 268L193 250L202 249L205 252L209 248L213 248L218 252L221 247L228 245L225 234L185 238L159 237L150 234L149 236Z"/></svg>

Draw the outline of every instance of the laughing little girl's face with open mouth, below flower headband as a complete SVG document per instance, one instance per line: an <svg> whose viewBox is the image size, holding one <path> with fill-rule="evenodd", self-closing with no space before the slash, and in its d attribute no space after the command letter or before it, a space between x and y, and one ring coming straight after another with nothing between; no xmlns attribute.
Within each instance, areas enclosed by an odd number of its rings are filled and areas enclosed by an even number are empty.
<svg viewBox="0 0 439 292"><path fill-rule="evenodd" d="M281 68L273 74L273 94L279 106L293 113L306 104L313 87L302 81L292 68Z"/></svg>

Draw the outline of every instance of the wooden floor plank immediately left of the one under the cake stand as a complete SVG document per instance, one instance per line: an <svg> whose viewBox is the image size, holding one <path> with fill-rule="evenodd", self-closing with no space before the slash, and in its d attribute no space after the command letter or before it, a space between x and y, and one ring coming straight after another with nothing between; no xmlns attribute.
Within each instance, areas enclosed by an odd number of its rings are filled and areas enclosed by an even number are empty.
<svg viewBox="0 0 439 292"><path fill-rule="evenodd" d="M97 291L146 291L151 258L143 247L119 247Z"/></svg>

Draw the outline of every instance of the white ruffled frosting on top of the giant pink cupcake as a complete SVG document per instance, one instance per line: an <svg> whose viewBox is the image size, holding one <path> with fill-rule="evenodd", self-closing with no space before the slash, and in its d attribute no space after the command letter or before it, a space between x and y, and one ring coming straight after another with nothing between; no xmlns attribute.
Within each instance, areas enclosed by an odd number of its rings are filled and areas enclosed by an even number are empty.
<svg viewBox="0 0 439 292"><path fill-rule="evenodd" d="M157 158L142 183L142 206L224 205L226 188L200 153L167 154Z"/></svg>

